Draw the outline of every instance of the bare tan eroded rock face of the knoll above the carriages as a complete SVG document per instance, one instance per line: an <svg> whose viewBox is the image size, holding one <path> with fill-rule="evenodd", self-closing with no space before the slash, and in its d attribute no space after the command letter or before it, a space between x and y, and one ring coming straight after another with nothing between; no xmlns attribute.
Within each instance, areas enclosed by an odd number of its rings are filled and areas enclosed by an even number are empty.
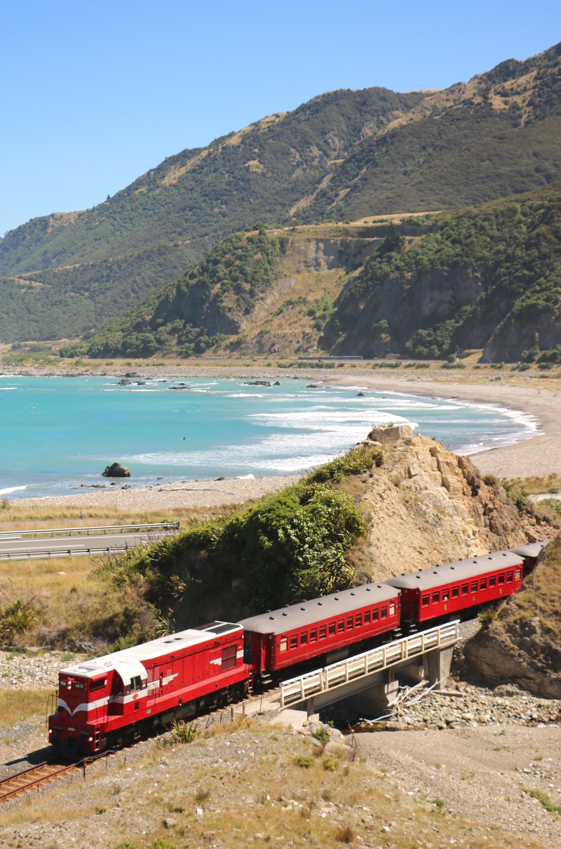
<svg viewBox="0 0 561 849"><path fill-rule="evenodd" d="M469 458L429 437L412 436L403 425L373 430L360 444L380 441L382 468L342 485L371 517L367 542L357 553L359 575L384 580L547 536L534 517L519 515L506 494L486 486Z"/></svg>

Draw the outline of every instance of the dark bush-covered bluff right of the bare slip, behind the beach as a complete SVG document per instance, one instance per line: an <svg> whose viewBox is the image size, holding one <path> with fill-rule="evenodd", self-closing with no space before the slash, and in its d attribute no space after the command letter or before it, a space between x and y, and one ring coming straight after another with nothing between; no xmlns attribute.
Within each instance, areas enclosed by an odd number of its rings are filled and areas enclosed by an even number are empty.
<svg viewBox="0 0 561 849"><path fill-rule="evenodd" d="M395 231L364 263L323 346L420 358L485 348L490 361L558 358L561 183L419 222L408 250ZM545 353L543 353L545 352Z"/></svg>

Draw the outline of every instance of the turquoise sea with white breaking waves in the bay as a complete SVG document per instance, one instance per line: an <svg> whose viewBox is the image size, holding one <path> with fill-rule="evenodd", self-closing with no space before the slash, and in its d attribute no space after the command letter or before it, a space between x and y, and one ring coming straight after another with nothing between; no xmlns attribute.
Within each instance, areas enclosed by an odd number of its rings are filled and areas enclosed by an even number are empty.
<svg viewBox="0 0 561 849"><path fill-rule="evenodd" d="M326 462L372 425L412 424L458 453L477 453L536 433L536 421L499 405L318 386L279 378L146 380L0 376L0 495L71 495L117 460L132 485L157 478L293 475ZM364 397L358 397L359 391Z"/></svg>

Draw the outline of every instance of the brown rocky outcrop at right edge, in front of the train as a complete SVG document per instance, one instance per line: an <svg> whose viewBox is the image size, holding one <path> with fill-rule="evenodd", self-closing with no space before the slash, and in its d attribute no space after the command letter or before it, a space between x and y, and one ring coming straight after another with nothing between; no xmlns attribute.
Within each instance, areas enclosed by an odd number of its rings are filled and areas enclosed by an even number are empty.
<svg viewBox="0 0 561 849"><path fill-rule="evenodd" d="M561 537L543 549L496 617L464 648L468 666L487 678L561 699Z"/></svg>

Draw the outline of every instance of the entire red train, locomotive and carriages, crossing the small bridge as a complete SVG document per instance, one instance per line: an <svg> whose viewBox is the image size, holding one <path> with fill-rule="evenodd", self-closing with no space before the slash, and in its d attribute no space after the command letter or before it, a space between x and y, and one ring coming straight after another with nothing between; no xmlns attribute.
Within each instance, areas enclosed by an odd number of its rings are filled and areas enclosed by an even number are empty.
<svg viewBox="0 0 561 849"><path fill-rule="evenodd" d="M65 666L48 742L59 756L120 748L306 668L431 627L516 593L541 543L480 555L214 621Z"/></svg>

